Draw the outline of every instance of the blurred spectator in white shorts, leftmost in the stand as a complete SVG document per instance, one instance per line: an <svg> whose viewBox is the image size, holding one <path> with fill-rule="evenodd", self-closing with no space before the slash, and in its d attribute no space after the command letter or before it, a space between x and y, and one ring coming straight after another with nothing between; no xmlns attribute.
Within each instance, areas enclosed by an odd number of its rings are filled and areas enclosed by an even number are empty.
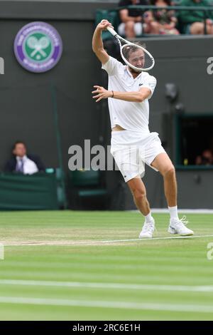
<svg viewBox="0 0 213 335"><path fill-rule="evenodd" d="M119 7L131 6L131 5L147 5L146 0L121 0L119 1ZM140 36L143 33L141 9L121 9L119 11L121 24L119 24L118 32L121 36L127 38L134 38Z"/></svg>

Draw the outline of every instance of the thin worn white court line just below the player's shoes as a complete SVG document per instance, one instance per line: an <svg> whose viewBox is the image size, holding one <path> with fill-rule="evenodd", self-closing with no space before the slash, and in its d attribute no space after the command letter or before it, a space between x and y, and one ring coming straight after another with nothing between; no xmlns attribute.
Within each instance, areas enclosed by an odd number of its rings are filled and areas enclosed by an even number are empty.
<svg viewBox="0 0 213 335"><path fill-rule="evenodd" d="M102 240L98 239L96 241L76 241L76 242L22 242L22 243L14 243L14 244L6 244L4 242L4 247L23 247L23 246L40 246L40 245L58 245L58 246L65 246L65 245L80 245L80 244L109 244L109 243L118 243L118 242L143 242L143 241L155 241L160 239L195 239L195 238L202 238L202 237L213 237L212 235L193 235L193 236L178 236L178 237L153 237L151 239L109 239L109 240Z"/></svg>

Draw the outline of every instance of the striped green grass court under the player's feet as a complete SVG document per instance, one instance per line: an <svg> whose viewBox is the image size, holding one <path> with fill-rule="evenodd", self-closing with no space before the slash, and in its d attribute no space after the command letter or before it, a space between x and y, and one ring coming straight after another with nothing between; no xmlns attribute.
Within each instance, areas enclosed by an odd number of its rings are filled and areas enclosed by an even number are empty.
<svg viewBox="0 0 213 335"><path fill-rule="evenodd" d="M155 237L170 237L168 215L153 216ZM195 235L213 235L213 215L187 219ZM213 260L207 259L207 244L213 237L99 243L137 239L142 224L137 212L1 212L0 319L212 320ZM110 283L120 286L107 287ZM198 286L205 291L196 292Z"/></svg>

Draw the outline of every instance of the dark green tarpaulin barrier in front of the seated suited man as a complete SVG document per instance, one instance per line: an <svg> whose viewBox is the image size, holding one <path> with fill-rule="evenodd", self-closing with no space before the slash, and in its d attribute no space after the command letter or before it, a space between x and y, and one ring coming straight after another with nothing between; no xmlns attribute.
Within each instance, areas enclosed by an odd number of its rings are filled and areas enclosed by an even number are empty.
<svg viewBox="0 0 213 335"><path fill-rule="evenodd" d="M0 173L0 210L58 210L54 174Z"/></svg>

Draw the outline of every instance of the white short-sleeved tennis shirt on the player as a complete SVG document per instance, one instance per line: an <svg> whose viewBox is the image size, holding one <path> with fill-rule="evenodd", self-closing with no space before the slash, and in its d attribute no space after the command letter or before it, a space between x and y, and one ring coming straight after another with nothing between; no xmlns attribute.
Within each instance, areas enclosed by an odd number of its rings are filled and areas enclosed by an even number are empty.
<svg viewBox="0 0 213 335"><path fill-rule="evenodd" d="M142 131L144 135L150 133L148 129L149 104L148 99L153 95L156 79L147 72L141 72L135 79L127 66L124 66L116 58L109 57L109 61L102 64L102 68L109 75L108 90L131 92L139 91L140 88L150 88L151 94L142 103L109 98L109 115L111 128L121 125L126 130Z"/></svg>

